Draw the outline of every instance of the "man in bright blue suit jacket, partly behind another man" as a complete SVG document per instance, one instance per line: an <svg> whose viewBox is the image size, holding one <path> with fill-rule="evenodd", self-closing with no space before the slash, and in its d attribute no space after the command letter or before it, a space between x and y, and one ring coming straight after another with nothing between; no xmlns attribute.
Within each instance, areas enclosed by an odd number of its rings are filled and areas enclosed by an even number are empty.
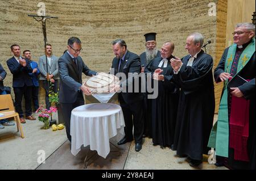
<svg viewBox="0 0 256 181"><path fill-rule="evenodd" d="M27 58L27 60L30 61L30 66L33 69L32 73L29 73L30 77L32 78L32 101L34 103L35 111L38 110L39 104L38 104L38 91L39 91L39 82L38 82L38 75L40 73L40 70L38 68L38 63L31 60L31 52L30 50L24 50L23 56Z"/></svg>

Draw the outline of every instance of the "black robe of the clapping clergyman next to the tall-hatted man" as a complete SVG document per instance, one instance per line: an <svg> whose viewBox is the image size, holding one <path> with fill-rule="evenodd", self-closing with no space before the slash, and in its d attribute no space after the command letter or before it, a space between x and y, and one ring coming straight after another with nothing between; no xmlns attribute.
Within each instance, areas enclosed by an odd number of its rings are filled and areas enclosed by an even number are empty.
<svg viewBox="0 0 256 181"><path fill-rule="evenodd" d="M164 64L160 67L160 69L163 70L161 74L169 74L169 78L173 73L170 58L168 58L166 68L163 68ZM159 69L159 63L161 61L162 57L154 58L154 60L147 65L145 72L151 72L153 74L156 69ZM152 79L152 81L156 80ZM179 91L176 89L174 83L171 83L168 80L156 82L158 83L158 97L156 99L151 99L152 142L154 145L160 145L161 147L170 147L174 142Z"/></svg>

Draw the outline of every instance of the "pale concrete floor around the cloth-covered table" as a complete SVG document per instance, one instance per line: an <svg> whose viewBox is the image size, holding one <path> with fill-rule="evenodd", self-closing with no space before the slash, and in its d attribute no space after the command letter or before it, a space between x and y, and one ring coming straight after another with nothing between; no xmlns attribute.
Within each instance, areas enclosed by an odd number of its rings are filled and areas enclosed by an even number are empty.
<svg viewBox="0 0 256 181"><path fill-rule="evenodd" d="M56 115L53 115L53 119ZM70 143L67 141L65 129L61 131L51 131L51 129L42 129L43 123L36 120L26 120L22 124L24 136L22 139L20 133L16 132L16 126L6 127L0 130L0 169L84 169L84 158L89 150L89 146L82 146L81 151L72 155ZM115 146L120 140L121 135L111 138ZM115 146L110 145L112 151L117 150ZM143 141L142 150L134 150L134 141L118 146L121 155L118 152L110 152L106 159L97 155L96 151L89 151L87 170L193 170L189 166L187 159L176 157L175 152L169 148L161 149L160 146L153 146L150 138ZM43 151L43 152L42 152ZM4 154L3 154L4 153ZM45 163L42 156L45 153ZM225 167L216 167L208 163L208 155L204 156L204 162L201 169L224 170Z"/></svg>

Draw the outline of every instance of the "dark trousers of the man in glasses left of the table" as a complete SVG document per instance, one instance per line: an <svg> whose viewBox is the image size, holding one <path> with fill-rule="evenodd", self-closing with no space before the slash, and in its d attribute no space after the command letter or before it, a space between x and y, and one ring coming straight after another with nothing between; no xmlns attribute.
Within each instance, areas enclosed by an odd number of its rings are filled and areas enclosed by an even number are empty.
<svg viewBox="0 0 256 181"><path fill-rule="evenodd" d="M70 135L71 111L73 110L73 108L76 108L82 105L84 105L84 97L82 96L82 92L79 92L79 94L77 95L77 99L75 103L68 103L68 104L60 103L61 109L63 111L63 118L65 121L67 137L70 142L71 142L71 135Z"/></svg>

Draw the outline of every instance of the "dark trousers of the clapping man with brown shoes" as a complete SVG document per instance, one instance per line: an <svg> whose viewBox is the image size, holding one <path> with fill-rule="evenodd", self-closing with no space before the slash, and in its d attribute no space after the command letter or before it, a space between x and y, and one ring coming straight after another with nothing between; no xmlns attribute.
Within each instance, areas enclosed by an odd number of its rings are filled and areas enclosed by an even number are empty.
<svg viewBox="0 0 256 181"><path fill-rule="evenodd" d="M25 108L26 108L26 116L31 116L31 94L32 94L32 86L23 87L13 87L14 95L15 95L15 110L19 113L19 117L23 117L22 111L22 96L25 98Z"/></svg>

